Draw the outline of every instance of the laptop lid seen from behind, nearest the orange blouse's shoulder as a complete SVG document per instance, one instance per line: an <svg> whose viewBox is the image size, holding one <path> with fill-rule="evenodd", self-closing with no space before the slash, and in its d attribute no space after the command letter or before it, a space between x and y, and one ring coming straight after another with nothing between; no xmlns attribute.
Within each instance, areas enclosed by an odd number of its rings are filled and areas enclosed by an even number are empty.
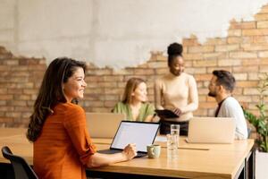
<svg viewBox="0 0 268 179"><path fill-rule="evenodd" d="M114 113L86 113L88 132L92 138L111 138L125 115ZM105 127L109 126L109 127Z"/></svg>

